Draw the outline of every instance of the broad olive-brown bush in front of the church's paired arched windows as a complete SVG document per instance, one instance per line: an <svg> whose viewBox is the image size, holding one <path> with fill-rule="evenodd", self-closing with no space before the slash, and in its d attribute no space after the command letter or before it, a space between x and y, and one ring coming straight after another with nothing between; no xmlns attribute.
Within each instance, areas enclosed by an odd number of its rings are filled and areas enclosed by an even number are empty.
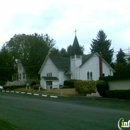
<svg viewBox="0 0 130 130"><path fill-rule="evenodd" d="M74 87L78 94L85 96L86 94L91 94L96 92L96 82L93 80L89 81L75 81Z"/></svg>

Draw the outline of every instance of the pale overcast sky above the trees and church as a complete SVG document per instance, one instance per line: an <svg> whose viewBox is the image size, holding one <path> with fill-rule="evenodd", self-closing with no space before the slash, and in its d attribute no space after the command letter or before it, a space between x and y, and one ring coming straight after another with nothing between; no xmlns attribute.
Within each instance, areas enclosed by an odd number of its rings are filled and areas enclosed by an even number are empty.
<svg viewBox="0 0 130 130"><path fill-rule="evenodd" d="M85 54L103 30L115 54L130 48L130 0L3 0L0 48L15 34L48 34L58 49L73 44L75 29Z"/></svg>

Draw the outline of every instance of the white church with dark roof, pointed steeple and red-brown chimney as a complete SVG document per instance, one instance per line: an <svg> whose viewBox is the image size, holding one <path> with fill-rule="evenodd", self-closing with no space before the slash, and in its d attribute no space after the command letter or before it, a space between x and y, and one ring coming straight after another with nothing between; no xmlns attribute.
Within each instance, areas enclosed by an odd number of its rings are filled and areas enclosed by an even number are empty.
<svg viewBox="0 0 130 130"><path fill-rule="evenodd" d="M113 68L98 53L82 55L77 36L74 38L70 58L47 56L39 74L44 89L59 88L65 80L98 80L113 75Z"/></svg>

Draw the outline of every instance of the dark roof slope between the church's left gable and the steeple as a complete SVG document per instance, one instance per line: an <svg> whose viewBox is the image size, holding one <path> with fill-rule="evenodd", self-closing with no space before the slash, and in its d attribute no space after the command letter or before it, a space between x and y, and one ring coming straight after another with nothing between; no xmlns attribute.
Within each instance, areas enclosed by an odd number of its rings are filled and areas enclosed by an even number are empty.
<svg viewBox="0 0 130 130"><path fill-rule="evenodd" d="M60 57L60 56L50 56L49 57L54 65L60 70L70 69L70 58Z"/></svg>

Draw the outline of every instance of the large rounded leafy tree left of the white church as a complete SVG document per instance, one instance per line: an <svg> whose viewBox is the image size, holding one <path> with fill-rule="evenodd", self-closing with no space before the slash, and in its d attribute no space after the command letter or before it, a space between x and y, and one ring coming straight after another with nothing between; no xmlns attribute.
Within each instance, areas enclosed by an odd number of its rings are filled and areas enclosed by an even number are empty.
<svg viewBox="0 0 130 130"><path fill-rule="evenodd" d="M18 34L6 43L6 48L11 60L20 60L28 76L35 78L48 51L54 44L55 41L47 34Z"/></svg>

